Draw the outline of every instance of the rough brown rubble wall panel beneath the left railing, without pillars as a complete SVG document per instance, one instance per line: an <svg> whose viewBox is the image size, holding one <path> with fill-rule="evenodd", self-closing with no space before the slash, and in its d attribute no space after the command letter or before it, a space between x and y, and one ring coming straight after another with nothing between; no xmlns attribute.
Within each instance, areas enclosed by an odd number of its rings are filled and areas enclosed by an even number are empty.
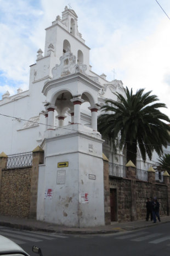
<svg viewBox="0 0 170 256"><path fill-rule="evenodd" d="M1 179L0 213L29 218L31 168L4 169Z"/></svg>

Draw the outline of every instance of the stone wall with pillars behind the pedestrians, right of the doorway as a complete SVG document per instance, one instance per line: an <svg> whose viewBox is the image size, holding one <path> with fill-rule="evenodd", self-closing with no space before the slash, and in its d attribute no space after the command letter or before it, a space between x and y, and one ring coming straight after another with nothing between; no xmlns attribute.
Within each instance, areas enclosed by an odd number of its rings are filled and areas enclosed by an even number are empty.
<svg viewBox="0 0 170 256"><path fill-rule="evenodd" d="M128 172L128 169L127 169ZM149 173L154 176L154 173ZM169 215L169 177L166 183L154 183L135 179L132 168L127 178L110 177L110 189L117 191L117 221L145 220L146 218L146 198L157 197L160 203L160 216Z"/></svg>

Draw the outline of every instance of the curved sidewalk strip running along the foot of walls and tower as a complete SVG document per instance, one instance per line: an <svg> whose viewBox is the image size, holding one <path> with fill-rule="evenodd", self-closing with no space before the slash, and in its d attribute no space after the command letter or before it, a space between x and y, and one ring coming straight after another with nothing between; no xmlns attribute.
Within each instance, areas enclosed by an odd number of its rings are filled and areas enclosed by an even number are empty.
<svg viewBox="0 0 170 256"><path fill-rule="evenodd" d="M98 227L65 227L48 222L37 221L33 219L20 219L16 217L1 216L0 226L15 227L22 230L31 231L43 231L43 232L55 232L55 233L67 233L67 234L104 234L104 233L116 233L123 231L133 231L137 229L144 229L145 227L151 227L155 225L161 225L163 223L170 222L170 216L164 216L161 218L161 222L156 224L153 221L131 221L131 222L111 222L111 225L98 226Z"/></svg>

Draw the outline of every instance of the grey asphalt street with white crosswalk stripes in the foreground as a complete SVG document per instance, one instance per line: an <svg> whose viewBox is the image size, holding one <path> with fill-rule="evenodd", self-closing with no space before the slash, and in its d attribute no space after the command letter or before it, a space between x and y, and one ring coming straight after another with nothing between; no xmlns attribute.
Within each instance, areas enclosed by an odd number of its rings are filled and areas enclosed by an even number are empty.
<svg viewBox="0 0 170 256"><path fill-rule="evenodd" d="M58 235L0 226L0 234L18 243L31 256L32 246L43 256L169 256L170 223L106 235Z"/></svg>

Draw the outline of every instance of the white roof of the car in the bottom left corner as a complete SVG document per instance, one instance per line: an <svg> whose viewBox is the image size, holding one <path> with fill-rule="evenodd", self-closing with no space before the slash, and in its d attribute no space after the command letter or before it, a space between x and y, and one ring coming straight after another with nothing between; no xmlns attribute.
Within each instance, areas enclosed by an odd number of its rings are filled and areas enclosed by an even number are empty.
<svg viewBox="0 0 170 256"><path fill-rule="evenodd" d="M18 244L14 243L12 240L8 239L7 237L4 237L0 235L0 255L2 253L21 253L23 255L29 256Z"/></svg>

